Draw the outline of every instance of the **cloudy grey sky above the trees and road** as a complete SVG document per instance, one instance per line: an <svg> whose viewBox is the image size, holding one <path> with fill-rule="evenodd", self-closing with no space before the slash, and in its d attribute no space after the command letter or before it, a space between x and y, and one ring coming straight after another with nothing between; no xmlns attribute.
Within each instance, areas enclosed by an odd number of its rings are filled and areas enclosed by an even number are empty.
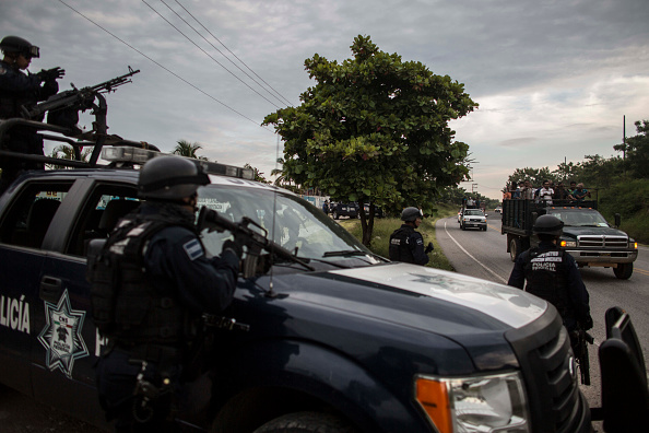
<svg viewBox="0 0 649 433"><path fill-rule="evenodd" d="M61 91L141 71L107 95L110 133L196 142L267 178L283 148L260 125L316 85L304 61L341 62L370 36L464 84L480 107L450 122L473 161L460 186L495 199L516 168L611 157L625 124L636 134L648 23L647 0L0 0L0 37L40 47L32 72L66 69Z"/></svg>

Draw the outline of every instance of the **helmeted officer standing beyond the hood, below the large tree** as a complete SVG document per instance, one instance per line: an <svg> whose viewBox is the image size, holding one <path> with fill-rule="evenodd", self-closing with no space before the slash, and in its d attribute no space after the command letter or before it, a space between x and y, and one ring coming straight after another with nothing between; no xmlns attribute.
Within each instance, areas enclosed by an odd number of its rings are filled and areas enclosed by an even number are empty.
<svg viewBox="0 0 649 433"><path fill-rule="evenodd" d="M424 248L424 237L415 229L422 223L424 215L417 208L405 208L401 212L403 224L390 235L389 255L392 261L426 265L427 254L433 250L433 244Z"/></svg>

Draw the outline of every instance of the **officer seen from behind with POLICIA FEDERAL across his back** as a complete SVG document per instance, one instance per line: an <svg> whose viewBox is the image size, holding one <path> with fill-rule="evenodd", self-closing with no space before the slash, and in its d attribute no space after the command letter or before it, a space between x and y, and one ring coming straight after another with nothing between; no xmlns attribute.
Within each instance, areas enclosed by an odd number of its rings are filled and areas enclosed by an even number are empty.
<svg viewBox="0 0 649 433"><path fill-rule="evenodd" d="M569 330L592 328L589 295L581 281L577 262L559 249L557 241L564 223L554 215L541 215L532 231L539 236L538 247L521 253L507 284L544 299L559 312Z"/></svg>

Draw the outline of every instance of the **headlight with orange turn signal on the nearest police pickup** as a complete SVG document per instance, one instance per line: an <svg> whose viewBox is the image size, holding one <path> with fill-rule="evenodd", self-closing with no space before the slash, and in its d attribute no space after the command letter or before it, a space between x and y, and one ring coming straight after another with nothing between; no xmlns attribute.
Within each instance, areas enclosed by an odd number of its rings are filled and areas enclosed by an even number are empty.
<svg viewBox="0 0 649 433"><path fill-rule="evenodd" d="M417 376L415 397L440 433L529 432L519 373L465 378Z"/></svg>

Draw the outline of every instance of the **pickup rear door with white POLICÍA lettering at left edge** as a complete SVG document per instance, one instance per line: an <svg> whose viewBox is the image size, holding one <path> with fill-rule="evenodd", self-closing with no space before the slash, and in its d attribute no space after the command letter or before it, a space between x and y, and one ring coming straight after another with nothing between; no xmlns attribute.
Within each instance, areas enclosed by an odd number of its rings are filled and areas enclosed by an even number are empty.
<svg viewBox="0 0 649 433"><path fill-rule="evenodd" d="M0 221L0 376L32 395L32 349L40 330L42 249L47 229L72 182L24 184L5 204Z"/></svg>

